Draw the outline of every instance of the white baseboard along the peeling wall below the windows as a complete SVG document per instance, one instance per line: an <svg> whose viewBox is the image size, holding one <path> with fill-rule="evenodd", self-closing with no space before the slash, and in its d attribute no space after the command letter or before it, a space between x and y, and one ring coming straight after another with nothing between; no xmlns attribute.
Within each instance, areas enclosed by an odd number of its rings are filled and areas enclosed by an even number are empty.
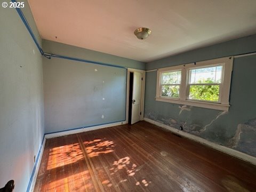
<svg viewBox="0 0 256 192"><path fill-rule="evenodd" d="M187 133L187 132L184 132L184 131L180 131L180 130L175 129L175 128L169 126L169 125L165 125L163 123L159 123L159 122L154 121L154 120L149 119L149 118L145 118L144 117L144 121L149 122L149 123L154 124L154 125L157 125L157 126L160 126L160 127L163 127L164 129L167 129L167 130L169 130L169 131L171 131L171 132L173 132L175 134L179 134L182 137L186 137L188 139L197 141L199 143L202 143L203 145L206 145L206 146L209 146L211 148L217 149L219 151L222 151L223 153L229 154L231 156L235 156L235 157L237 157L239 159L242 159L243 161L246 161L246 162L249 162L251 164L256 165L256 157L247 155L247 154L242 153L240 151L237 151L235 149L231 149L231 148L228 148L228 147L225 147L225 146L221 146L221 145L219 145L217 143L208 141L206 139L203 139L201 137L198 137L196 135L193 135L193 134L190 134L190 133Z"/></svg>

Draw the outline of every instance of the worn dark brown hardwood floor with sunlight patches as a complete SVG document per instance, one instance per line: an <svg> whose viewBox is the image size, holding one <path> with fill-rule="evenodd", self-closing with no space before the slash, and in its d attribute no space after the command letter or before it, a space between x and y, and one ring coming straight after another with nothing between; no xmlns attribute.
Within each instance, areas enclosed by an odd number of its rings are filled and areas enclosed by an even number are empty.
<svg viewBox="0 0 256 192"><path fill-rule="evenodd" d="M256 191L256 166L139 122L46 140L34 191Z"/></svg>

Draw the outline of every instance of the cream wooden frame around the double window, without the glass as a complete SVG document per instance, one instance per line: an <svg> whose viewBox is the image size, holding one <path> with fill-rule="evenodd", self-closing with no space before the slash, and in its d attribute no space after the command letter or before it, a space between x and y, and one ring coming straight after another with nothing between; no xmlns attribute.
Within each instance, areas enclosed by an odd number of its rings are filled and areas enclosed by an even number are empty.
<svg viewBox="0 0 256 192"><path fill-rule="evenodd" d="M188 63L185 65L157 69L156 101L228 111L230 107L229 93L230 93L231 75L233 70L233 60L234 60L234 57L226 57L226 58L212 59L212 60L200 61L196 63ZM222 83L219 89L220 90L219 101L212 102L212 101L188 99L189 69L199 68L199 67L208 67L208 66L210 67L210 66L216 66L220 64L223 66L223 68L222 68ZM180 98L176 99L176 98L162 97L161 96L162 73L166 73L167 71L175 71L175 70L181 70L181 83L180 83L180 92L179 92Z"/></svg>

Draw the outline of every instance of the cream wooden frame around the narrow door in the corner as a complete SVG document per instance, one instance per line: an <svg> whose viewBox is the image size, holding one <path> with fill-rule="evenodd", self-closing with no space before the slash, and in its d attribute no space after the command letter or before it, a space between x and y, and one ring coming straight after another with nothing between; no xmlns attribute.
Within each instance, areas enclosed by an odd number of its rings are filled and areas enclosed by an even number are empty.
<svg viewBox="0 0 256 192"><path fill-rule="evenodd" d="M130 94L130 72L139 72L142 74L143 80L141 81L141 102L140 102L140 121L144 118L144 99L145 99L145 82L146 82L146 71L140 69L127 68L127 79L126 79L126 116L125 123L128 123L129 118L129 94Z"/></svg>

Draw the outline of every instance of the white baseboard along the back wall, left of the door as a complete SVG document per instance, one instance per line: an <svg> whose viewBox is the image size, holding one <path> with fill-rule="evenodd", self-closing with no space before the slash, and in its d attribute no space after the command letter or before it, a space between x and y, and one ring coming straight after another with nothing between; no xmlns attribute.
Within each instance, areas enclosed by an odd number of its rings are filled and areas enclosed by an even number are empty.
<svg viewBox="0 0 256 192"><path fill-rule="evenodd" d="M126 124L126 122L121 121L121 122L96 125L96 126L91 126L91 127L84 127L84 128L76 129L76 130L67 130L67 131L62 131L62 132L58 132L58 133L46 133L45 138L46 139L56 138L56 137L61 137L61 136L65 136L65 135L82 133L82 132L86 132L86 131L93 131L93 130L103 129L106 127L112 127L112 126L118 126L118 125L124 125L124 124Z"/></svg>

